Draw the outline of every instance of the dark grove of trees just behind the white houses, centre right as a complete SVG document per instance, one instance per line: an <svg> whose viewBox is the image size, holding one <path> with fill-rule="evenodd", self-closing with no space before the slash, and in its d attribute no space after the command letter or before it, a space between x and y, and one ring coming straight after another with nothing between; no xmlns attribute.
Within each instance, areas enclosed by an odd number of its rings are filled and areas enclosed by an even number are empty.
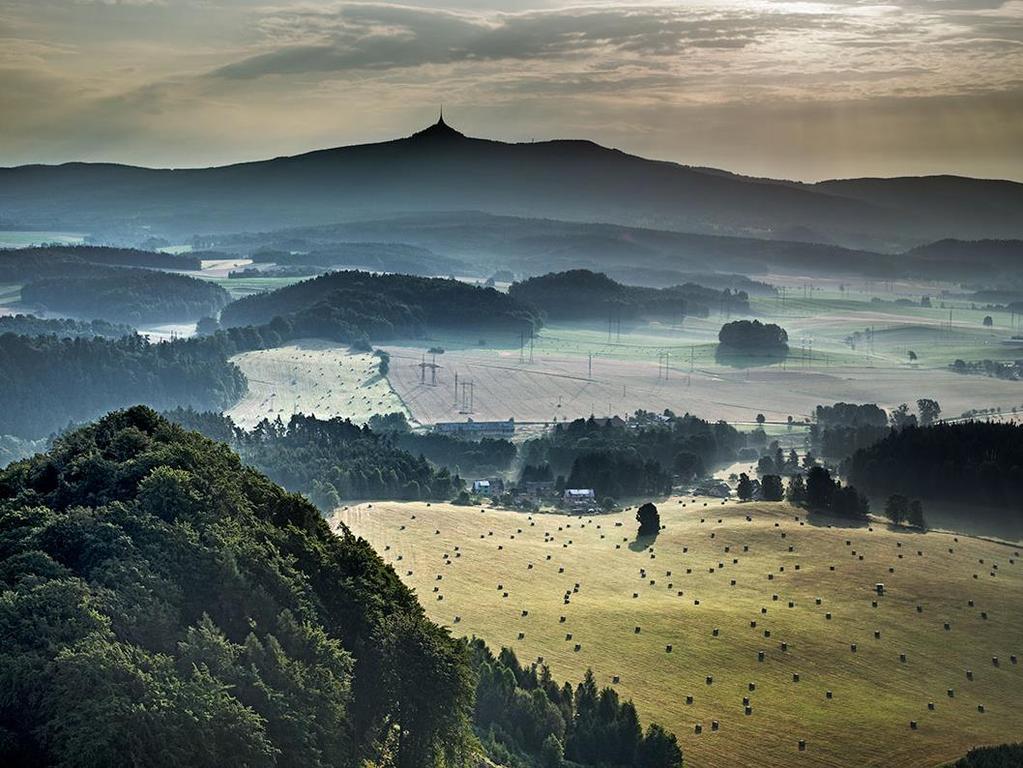
<svg viewBox="0 0 1023 768"><path fill-rule="evenodd" d="M637 411L628 421L590 416L557 424L526 441L522 455L534 471L548 465L560 487L622 498L667 493L674 476L701 477L745 445L746 437L723 421Z"/></svg>

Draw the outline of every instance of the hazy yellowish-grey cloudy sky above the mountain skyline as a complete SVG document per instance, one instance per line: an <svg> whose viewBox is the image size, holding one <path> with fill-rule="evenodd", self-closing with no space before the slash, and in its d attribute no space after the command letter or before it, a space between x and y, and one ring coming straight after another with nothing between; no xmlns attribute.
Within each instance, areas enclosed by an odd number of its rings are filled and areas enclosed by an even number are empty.
<svg viewBox="0 0 1023 768"><path fill-rule="evenodd" d="M588 138L802 179L1023 181L1023 0L0 0L0 166Z"/></svg>

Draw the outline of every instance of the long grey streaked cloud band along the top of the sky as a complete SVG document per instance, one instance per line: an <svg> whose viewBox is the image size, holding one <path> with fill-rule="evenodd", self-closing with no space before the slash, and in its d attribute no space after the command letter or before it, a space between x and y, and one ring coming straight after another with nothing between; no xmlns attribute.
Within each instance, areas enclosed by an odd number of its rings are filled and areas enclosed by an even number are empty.
<svg viewBox="0 0 1023 768"><path fill-rule="evenodd" d="M736 49L783 30L842 19L809 13L694 11L682 7L573 7L479 14L346 4L270 15L261 22L281 47L218 70L248 79L583 55L676 56L690 48Z"/></svg>

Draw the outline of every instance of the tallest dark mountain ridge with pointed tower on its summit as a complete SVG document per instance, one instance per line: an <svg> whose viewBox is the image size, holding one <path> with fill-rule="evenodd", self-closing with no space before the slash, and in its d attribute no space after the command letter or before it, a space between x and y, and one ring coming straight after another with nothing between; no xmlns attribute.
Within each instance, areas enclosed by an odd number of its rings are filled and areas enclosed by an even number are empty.
<svg viewBox="0 0 1023 768"><path fill-rule="evenodd" d="M0 221L100 237L181 238L456 210L882 251L942 237L1023 237L1023 184L953 177L798 184L590 141L470 138L443 121L404 139L222 168L0 169Z"/></svg>

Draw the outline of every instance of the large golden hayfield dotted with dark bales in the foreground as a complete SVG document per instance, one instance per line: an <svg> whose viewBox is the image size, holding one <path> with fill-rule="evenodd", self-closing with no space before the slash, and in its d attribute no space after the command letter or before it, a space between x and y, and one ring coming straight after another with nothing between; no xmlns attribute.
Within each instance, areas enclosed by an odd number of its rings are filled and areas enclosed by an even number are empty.
<svg viewBox="0 0 1023 768"><path fill-rule="evenodd" d="M454 633L542 657L560 680L591 668L676 732L688 766L935 766L1023 732L1018 545L682 501L659 504L642 544L634 510L377 502L332 523Z"/></svg>

